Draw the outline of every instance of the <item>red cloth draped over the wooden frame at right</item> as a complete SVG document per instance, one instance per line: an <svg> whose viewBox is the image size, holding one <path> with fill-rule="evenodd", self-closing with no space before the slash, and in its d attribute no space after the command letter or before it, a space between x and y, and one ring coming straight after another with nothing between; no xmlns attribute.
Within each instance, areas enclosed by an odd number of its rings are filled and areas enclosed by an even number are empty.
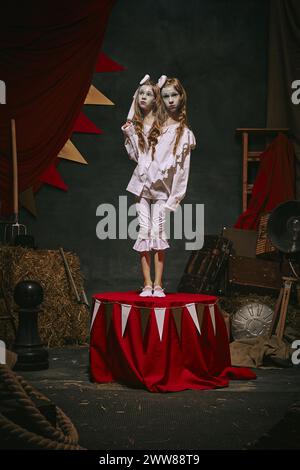
<svg viewBox="0 0 300 470"><path fill-rule="evenodd" d="M260 157L249 207L235 227L255 230L263 212L290 199L295 199L295 154L289 139L279 134Z"/></svg>

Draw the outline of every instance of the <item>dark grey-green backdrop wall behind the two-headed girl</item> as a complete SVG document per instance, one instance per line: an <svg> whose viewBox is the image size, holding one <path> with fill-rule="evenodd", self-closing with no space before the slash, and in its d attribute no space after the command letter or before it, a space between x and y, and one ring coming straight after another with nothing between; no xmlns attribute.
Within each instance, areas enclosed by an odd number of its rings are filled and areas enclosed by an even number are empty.
<svg viewBox="0 0 300 470"><path fill-rule="evenodd" d="M197 139L184 202L205 204L205 232L233 225L241 210L241 143L237 127L264 127L268 40L267 0L119 0L110 17L103 51L126 67L98 73L93 84L115 106L85 106L105 133L77 134L72 141L88 165L62 161L69 191L44 186L36 197L38 218L21 220L40 248L76 252L88 295L142 285L133 240L96 237L96 208L118 207L134 169L120 126L139 79L149 73L179 77L188 95L188 116ZM175 290L189 252L171 240L165 287Z"/></svg>

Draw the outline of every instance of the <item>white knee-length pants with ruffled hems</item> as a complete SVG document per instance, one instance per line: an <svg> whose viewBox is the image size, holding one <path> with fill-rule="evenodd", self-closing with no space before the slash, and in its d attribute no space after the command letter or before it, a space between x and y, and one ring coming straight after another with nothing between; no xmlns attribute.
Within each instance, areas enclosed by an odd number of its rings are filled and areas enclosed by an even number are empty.
<svg viewBox="0 0 300 470"><path fill-rule="evenodd" d="M165 231L166 201L139 197L136 210L139 221L139 233L133 249L136 251L165 250L170 248Z"/></svg>

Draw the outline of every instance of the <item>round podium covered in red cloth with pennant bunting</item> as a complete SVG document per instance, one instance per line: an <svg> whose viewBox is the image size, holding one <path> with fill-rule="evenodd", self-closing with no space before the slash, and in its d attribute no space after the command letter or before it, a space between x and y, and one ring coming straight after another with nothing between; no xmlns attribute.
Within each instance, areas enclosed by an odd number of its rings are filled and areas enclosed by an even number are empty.
<svg viewBox="0 0 300 470"><path fill-rule="evenodd" d="M233 368L217 298L138 292L93 296L90 371L95 382L121 382L151 392L212 389L253 379Z"/></svg>

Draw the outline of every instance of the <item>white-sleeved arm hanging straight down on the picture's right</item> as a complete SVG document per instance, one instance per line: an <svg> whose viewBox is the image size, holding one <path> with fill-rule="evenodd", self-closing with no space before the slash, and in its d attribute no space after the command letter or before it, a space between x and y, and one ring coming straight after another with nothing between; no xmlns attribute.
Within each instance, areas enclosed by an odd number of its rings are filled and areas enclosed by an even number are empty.
<svg viewBox="0 0 300 470"><path fill-rule="evenodd" d="M176 165L171 194L165 205L165 207L171 211L176 211L185 196L190 172L191 150L195 148L195 146L196 141L194 134L189 131L188 142L181 148L181 158Z"/></svg>

